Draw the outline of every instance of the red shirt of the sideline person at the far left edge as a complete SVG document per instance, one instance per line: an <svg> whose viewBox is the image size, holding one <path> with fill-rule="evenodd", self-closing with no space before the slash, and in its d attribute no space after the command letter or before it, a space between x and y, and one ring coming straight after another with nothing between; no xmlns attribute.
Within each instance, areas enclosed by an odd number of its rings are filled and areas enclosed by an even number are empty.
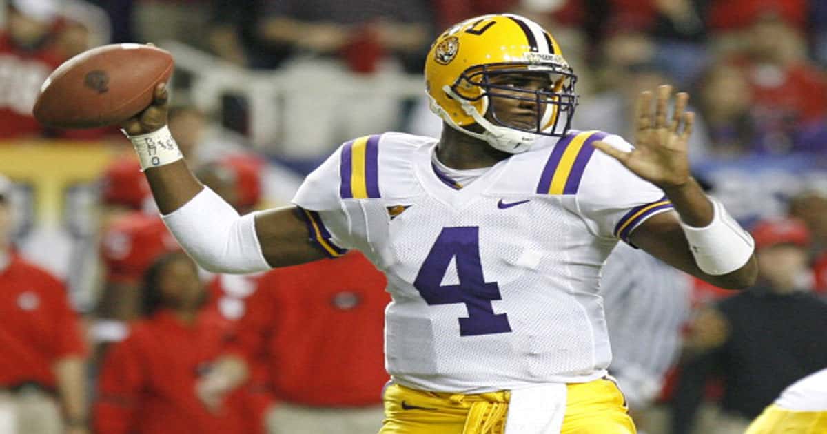
<svg viewBox="0 0 827 434"><path fill-rule="evenodd" d="M0 388L24 382L55 388L55 361L85 354L65 286L17 255L0 268L0 349Z"/></svg>

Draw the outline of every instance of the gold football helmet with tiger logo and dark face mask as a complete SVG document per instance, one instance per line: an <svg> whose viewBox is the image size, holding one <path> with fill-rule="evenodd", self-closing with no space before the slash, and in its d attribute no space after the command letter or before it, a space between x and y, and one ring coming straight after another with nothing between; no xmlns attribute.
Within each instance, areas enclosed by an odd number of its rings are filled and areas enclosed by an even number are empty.
<svg viewBox="0 0 827 434"><path fill-rule="evenodd" d="M495 79L500 74L548 74L551 85L504 85ZM518 15L462 21L437 37L425 61L431 110L449 126L510 153L530 149L538 136L566 134L577 105L576 80L557 41L536 22ZM528 122L533 125L509 122L490 98L528 102L535 112L533 122ZM475 123L485 131L467 128Z"/></svg>

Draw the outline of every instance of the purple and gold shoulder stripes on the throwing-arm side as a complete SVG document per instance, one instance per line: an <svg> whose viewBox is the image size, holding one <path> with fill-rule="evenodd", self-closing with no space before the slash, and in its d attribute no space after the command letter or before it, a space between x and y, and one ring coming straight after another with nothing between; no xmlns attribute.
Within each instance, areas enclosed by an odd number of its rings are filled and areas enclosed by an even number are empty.
<svg viewBox="0 0 827 434"><path fill-rule="evenodd" d="M380 135L364 136L342 146L339 196L343 199L380 198Z"/></svg>

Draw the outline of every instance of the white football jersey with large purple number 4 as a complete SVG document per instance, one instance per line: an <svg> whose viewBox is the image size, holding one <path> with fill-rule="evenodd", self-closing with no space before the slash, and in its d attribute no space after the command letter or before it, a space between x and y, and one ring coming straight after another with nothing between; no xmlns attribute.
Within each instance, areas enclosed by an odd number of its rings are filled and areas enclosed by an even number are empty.
<svg viewBox="0 0 827 434"><path fill-rule="evenodd" d="M293 202L318 243L361 250L388 277L394 381L484 393L605 375L600 268L672 205L596 140L631 149L571 131L460 188L433 166L436 139L389 132L347 142L308 176Z"/></svg>

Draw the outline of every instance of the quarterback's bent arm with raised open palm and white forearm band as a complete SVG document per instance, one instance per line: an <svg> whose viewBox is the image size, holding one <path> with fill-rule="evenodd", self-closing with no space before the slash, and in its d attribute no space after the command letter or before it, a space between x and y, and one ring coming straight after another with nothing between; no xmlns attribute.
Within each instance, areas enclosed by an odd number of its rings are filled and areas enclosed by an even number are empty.
<svg viewBox="0 0 827 434"><path fill-rule="evenodd" d="M619 150L603 141L595 147L614 157L640 178L661 188L675 207L649 218L629 237L635 246L669 265L721 288L741 289L758 275L752 238L710 200L691 177L686 143L695 114L686 112L689 95L677 93L671 119L671 86L643 92L635 108L635 148Z"/></svg>

